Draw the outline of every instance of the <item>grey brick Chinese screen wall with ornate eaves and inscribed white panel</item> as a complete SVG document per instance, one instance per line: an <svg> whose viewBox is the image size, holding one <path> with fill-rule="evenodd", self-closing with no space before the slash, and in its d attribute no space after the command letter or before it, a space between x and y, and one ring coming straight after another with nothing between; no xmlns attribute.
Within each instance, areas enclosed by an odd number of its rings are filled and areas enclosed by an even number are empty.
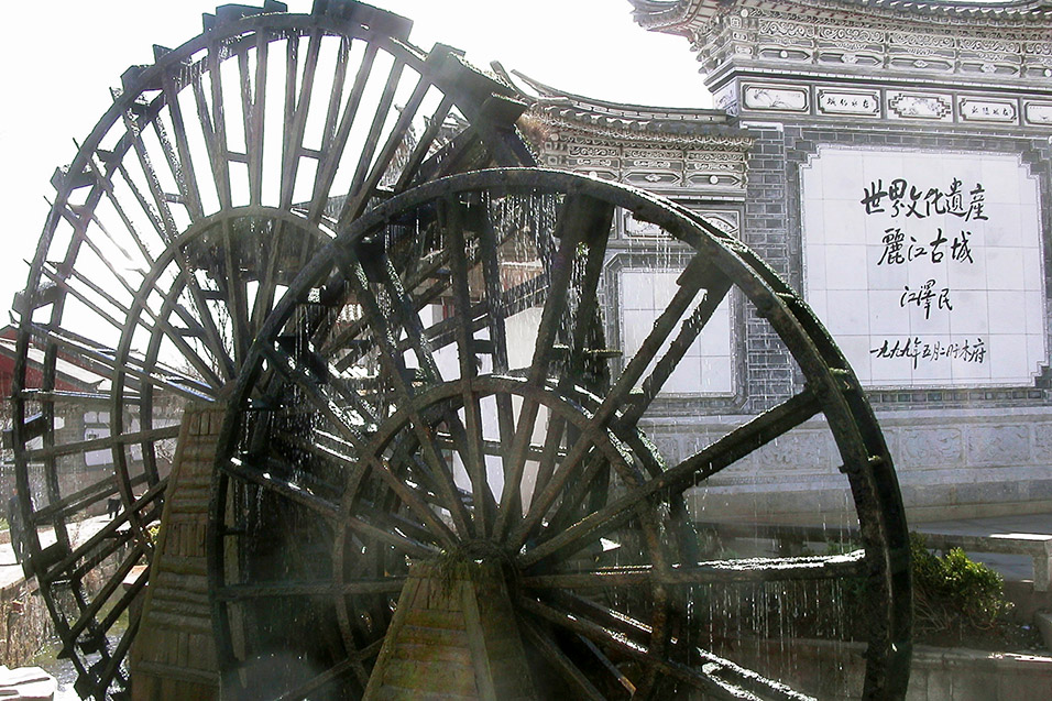
<svg viewBox="0 0 1052 701"><path fill-rule="evenodd" d="M670 196L802 291L870 394L913 519L1052 506L1052 3L632 2L690 42L719 109L532 83L546 163ZM648 233L617 222L627 346L668 255ZM672 456L799 385L730 306L728 344L699 347L703 379L684 377L702 391L673 391L649 427ZM793 431L698 504L813 519L843 499L831 454Z"/></svg>

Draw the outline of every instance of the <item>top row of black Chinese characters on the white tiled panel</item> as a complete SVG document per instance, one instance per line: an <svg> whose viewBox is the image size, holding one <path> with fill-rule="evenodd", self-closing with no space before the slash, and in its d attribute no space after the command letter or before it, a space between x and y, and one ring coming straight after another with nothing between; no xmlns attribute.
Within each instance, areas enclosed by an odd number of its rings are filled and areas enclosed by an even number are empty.
<svg viewBox="0 0 1052 701"><path fill-rule="evenodd" d="M986 189L982 183L965 193L963 183L953 178L950 188L918 187L906 178L895 178L887 187L883 179L872 182L863 187L863 197L859 200L866 208L867 215L886 212L891 217L914 217L927 219L935 215L953 215L965 221L988 219L984 207Z"/></svg>

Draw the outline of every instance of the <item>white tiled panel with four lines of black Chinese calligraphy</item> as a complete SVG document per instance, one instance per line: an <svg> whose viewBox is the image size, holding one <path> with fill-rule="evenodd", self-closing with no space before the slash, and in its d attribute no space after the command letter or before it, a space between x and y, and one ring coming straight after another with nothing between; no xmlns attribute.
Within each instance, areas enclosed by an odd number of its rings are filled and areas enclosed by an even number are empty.
<svg viewBox="0 0 1052 701"><path fill-rule="evenodd" d="M822 147L801 187L804 294L864 384L1032 384L1041 213L1019 157Z"/></svg>

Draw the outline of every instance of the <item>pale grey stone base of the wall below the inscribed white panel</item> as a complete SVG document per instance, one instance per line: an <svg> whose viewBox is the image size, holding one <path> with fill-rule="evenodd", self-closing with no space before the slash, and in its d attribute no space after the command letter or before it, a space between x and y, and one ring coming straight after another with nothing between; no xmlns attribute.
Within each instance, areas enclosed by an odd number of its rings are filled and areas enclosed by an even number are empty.
<svg viewBox="0 0 1052 701"><path fill-rule="evenodd" d="M672 464L752 418L651 421ZM920 409L878 414L911 522L1052 510L1052 408ZM832 434L813 420L691 492L699 521L851 526L846 478Z"/></svg>

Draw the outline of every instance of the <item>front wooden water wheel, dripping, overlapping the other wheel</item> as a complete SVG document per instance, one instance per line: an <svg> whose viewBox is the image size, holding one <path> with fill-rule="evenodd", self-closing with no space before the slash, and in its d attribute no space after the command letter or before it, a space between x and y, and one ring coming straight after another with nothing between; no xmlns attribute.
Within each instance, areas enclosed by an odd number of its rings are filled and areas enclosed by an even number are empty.
<svg viewBox="0 0 1052 701"><path fill-rule="evenodd" d="M678 272L631 347L605 269L625 213ZM723 304L774 329L800 390L667 462L644 427ZM857 548L713 557L693 522L720 514L691 494L806 421L835 443ZM229 698L811 698L745 661L768 631L721 616L728 592L823 580L865 601L864 673L836 692L905 695L907 530L857 380L749 250L642 191L493 169L344 222L261 327L217 454Z"/></svg>

